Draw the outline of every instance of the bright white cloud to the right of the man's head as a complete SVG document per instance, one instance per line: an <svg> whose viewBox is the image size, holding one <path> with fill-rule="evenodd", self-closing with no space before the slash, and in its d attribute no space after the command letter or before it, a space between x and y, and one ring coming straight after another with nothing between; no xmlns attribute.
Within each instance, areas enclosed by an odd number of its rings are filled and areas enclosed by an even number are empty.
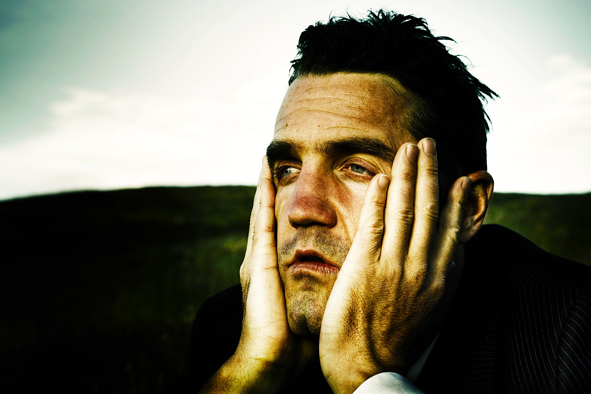
<svg viewBox="0 0 591 394"><path fill-rule="evenodd" d="M498 191L591 190L591 67L561 54L545 75L525 99L504 103L511 115L493 117L489 170Z"/></svg>

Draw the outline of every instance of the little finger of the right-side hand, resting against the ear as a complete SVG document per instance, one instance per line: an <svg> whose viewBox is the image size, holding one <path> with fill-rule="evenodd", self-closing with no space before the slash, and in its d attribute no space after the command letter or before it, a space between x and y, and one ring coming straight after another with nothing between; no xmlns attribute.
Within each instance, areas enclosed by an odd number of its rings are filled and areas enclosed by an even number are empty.
<svg viewBox="0 0 591 394"><path fill-rule="evenodd" d="M441 209L441 217L434 239L436 275L445 277L456 253L458 237L462 229L464 208L472 181L463 176L456 179L447 193L446 205Z"/></svg>

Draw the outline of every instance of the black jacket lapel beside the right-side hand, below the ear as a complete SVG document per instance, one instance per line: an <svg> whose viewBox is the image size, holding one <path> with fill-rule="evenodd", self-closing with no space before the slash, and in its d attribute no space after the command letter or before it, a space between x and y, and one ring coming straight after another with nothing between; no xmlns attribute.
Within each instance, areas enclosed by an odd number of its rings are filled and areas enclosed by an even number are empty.
<svg viewBox="0 0 591 394"><path fill-rule="evenodd" d="M417 386L427 393L495 392L501 343L501 295L478 240L466 244L462 279Z"/></svg>

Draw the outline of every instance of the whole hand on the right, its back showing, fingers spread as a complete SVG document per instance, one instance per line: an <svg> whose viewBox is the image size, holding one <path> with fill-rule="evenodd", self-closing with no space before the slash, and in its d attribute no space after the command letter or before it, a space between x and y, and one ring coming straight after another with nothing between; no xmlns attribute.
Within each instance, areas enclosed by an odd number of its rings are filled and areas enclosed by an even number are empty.
<svg viewBox="0 0 591 394"><path fill-rule="evenodd" d="M453 183L440 214L435 141L403 144L391 179L389 188L385 174L369 183L324 311L320 364L335 393L407 372L414 347L426 347L457 248L470 179Z"/></svg>

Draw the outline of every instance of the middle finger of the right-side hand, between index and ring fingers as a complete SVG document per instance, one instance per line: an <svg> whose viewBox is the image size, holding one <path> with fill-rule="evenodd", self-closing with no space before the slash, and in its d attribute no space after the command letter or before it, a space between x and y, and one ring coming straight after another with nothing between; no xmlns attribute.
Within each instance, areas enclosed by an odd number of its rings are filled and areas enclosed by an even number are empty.
<svg viewBox="0 0 591 394"><path fill-rule="evenodd" d="M385 209L382 256L402 258L408 250L408 237L414 218L414 186L418 147L405 143L392 163L392 181Z"/></svg>

